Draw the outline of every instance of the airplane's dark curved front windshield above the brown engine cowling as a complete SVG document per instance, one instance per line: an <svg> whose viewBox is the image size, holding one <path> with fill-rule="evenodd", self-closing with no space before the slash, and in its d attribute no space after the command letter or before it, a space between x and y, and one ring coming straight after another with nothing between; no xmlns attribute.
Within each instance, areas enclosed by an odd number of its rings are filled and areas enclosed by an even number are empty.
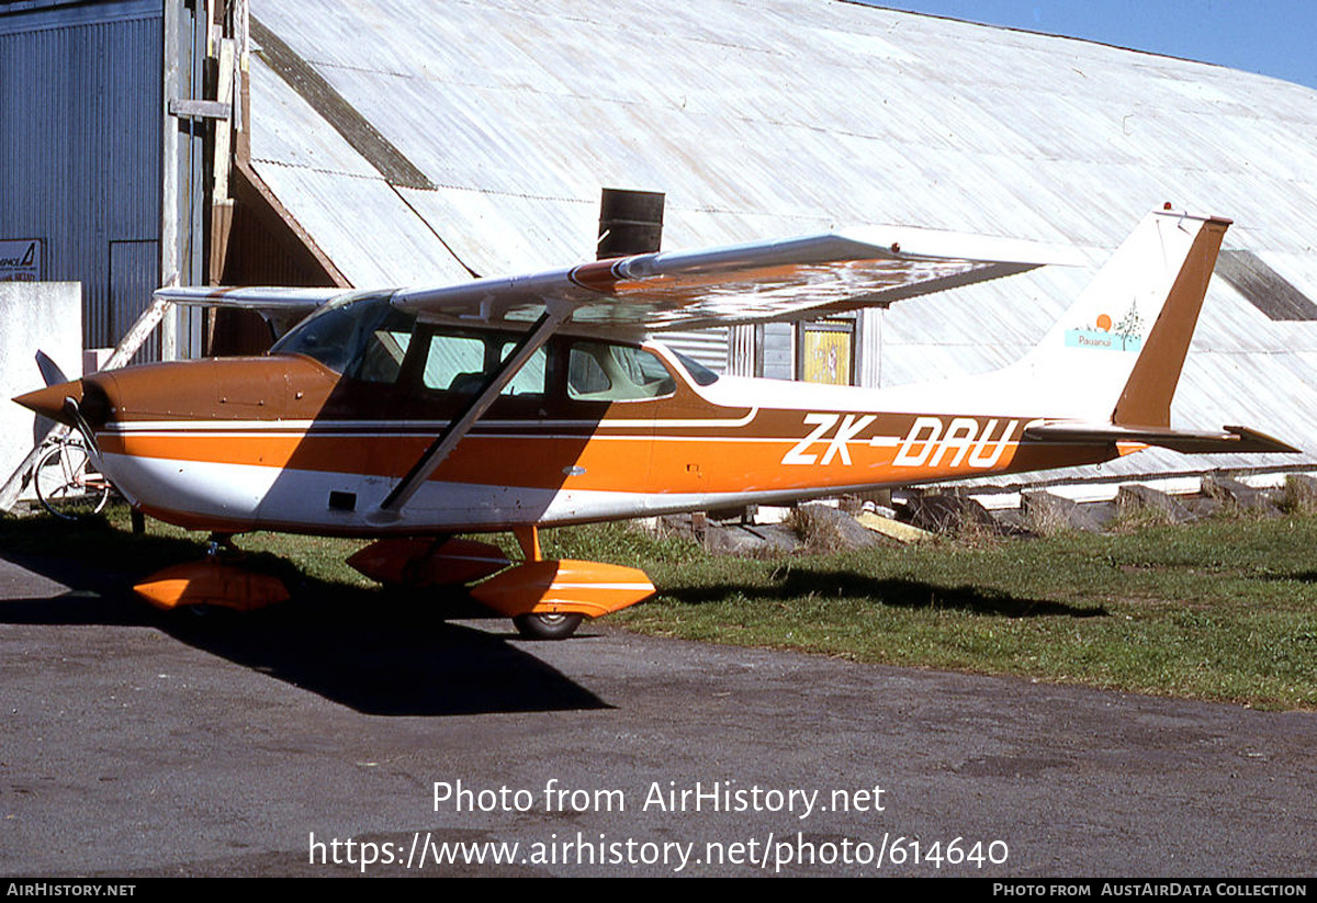
<svg viewBox="0 0 1317 903"><path fill-rule="evenodd" d="M271 354L306 354L336 373L392 382L402 370L416 317L395 308L391 294L331 301L275 342Z"/></svg>

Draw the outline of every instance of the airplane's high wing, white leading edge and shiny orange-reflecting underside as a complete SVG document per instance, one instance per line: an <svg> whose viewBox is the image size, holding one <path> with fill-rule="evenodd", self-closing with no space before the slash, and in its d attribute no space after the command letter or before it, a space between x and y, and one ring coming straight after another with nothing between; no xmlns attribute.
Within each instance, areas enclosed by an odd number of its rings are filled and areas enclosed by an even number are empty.
<svg viewBox="0 0 1317 903"><path fill-rule="evenodd" d="M1050 263L1084 259L1073 249L1038 242L861 226L404 288L394 294L394 304L424 320L522 324L553 307L564 309L570 324L648 333L826 316ZM278 329L342 294L340 288L162 288L157 297L259 311Z"/></svg>

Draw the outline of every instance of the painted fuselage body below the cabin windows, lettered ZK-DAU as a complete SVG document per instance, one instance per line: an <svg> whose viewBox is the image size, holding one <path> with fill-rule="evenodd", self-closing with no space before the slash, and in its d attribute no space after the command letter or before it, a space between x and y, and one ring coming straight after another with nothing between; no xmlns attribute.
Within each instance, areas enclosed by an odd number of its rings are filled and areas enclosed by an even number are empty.
<svg viewBox="0 0 1317 903"><path fill-rule="evenodd" d="M105 473L153 515L223 532L374 536L506 529L788 502L1090 463L1112 446L1022 441L1029 417L885 409L881 391L817 404L776 380L693 383L591 401L507 396L394 519L389 491L453 416L449 392L390 392L304 357L155 365L90 378L112 416ZM774 396L797 395L788 407ZM710 396L715 396L714 400ZM803 403L803 404L802 404Z"/></svg>

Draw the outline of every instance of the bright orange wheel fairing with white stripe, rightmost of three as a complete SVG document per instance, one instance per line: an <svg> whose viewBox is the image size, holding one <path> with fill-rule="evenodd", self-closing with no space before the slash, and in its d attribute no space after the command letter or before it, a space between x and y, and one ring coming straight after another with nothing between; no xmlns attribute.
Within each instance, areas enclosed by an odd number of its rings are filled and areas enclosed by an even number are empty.
<svg viewBox="0 0 1317 903"><path fill-rule="evenodd" d="M647 599L655 584L644 571L594 561L532 561L471 590L471 598L508 617L585 615L599 617Z"/></svg>

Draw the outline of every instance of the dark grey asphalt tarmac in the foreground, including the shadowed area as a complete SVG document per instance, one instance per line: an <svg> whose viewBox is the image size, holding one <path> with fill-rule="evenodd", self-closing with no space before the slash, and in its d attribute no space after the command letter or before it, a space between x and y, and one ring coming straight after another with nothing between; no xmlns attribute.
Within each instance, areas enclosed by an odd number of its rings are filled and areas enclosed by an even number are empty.
<svg viewBox="0 0 1317 903"><path fill-rule="evenodd" d="M1317 874L1312 712L126 587L0 559L0 874Z"/></svg>

